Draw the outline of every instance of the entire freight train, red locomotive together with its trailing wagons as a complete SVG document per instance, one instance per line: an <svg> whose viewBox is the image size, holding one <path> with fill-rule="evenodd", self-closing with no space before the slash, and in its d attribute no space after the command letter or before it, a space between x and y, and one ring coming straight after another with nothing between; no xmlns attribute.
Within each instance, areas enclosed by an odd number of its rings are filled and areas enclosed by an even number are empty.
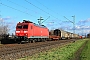
<svg viewBox="0 0 90 60"><path fill-rule="evenodd" d="M60 29L49 31L46 26L37 25L27 20L23 20L23 22L17 23L15 36L15 41L17 43L21 43L23 41L36 42L46 40L79 38L78 34L73 34Z"/></svg>

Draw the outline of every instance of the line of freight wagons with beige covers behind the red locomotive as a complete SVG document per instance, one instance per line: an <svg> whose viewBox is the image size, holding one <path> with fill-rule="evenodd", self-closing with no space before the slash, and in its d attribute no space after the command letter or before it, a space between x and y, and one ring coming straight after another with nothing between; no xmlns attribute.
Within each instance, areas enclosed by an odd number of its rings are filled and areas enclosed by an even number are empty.
<svg viewBox="0 0 90 60"><path fill-rule="evenodd" d="M64 30L55 29L50 31L50 38L51 39L71 39L71 38L79 38L78 34L73 34Z"/></svg>

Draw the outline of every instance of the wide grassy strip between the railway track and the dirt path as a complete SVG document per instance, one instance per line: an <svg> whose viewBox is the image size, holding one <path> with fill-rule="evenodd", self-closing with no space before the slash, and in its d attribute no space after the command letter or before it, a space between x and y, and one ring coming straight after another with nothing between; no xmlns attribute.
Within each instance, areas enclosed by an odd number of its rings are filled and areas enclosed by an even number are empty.
<svg viewBox="0 0 90 60"><path fill-rule="evenodd" d="M53 48L49 51L41 52L18 60L70 60L85 41L85 39L78 40L74 43L66 44L62 47Z"/></svg>

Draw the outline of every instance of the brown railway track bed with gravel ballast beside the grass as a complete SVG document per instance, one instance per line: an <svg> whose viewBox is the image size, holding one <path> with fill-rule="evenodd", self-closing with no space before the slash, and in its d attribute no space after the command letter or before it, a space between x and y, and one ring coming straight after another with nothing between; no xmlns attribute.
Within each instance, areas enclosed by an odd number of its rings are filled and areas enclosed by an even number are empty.
<svg viewBox="0 0 90 60"><path fill-rule="evenodd" d="M25 56L49 50L51 48L72 42L73 40L59 40L27 44L8 44L0 46L0 60L16 60Z"/></svg>

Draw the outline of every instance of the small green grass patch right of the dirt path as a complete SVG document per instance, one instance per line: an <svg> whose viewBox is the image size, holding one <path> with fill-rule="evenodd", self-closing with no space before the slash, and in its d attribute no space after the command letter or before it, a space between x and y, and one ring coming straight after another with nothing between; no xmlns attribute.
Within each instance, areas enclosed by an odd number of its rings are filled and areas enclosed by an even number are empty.
<svg viewBox="0 0 90 60"><path fill-rule="evenodd" d="M87 42L85 48L83 49L80 58L81 60L90 60L90 39Z"/></svg>

